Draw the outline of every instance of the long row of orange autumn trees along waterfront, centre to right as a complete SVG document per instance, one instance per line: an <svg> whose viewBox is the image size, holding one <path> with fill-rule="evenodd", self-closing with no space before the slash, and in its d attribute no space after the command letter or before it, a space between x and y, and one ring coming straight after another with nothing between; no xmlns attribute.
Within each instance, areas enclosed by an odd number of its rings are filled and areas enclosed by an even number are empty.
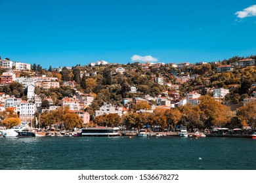
<svg viewBox="0 0 256 183"><path fill-rule="evenodd" d="M116 114L117 116L117 114ZM163 129L175 129L177 125L186 126L190 131L193 129L203 130L205 128L226 127L226 126L240 126L241 122L235 119L234 114L230 108L215 101L210 96L203 96L200 99L200 105L192 106L190 104L179 108L161 109L156 108L153 113L149 112L129 112L124 114L119 120L108 120L114 118L112 114L97 116L95 123L104 126L121 125L131 129L143 128L150 126L152 128L160 126ZM119 118L119 116L117 117Z"/></svg>

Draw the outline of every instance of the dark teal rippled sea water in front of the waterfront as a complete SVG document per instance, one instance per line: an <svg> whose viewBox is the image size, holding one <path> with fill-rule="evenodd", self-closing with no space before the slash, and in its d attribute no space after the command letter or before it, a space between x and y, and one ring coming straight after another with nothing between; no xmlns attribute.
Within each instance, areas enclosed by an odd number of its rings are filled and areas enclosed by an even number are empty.
<svg viewBox="0 0 256 183"><path fill-rule="evenodd" d="M256 169L256 140L205 137L0 138L0 169Z"/></svg>

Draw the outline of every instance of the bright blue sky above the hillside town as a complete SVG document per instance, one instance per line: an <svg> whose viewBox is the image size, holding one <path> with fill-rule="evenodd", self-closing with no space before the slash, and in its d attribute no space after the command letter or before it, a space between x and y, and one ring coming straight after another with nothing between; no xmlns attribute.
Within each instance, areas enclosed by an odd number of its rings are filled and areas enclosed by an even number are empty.
<svg viewBox="0 0 256 183"><path fill-rule="evenodd" d="M45 68L100 59L128 63L134 55L165 63L250 56L256 54L253 5L255 0L0 0L0 56Z"/></svg>

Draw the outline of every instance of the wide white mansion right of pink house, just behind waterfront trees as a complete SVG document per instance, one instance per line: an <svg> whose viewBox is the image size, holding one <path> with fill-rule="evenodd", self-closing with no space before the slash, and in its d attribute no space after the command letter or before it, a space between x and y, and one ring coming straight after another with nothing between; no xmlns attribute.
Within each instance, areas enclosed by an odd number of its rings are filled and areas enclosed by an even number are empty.
<svg viewBox="0 0 256 183"><path fill-rule="evenodd" d="M112 104L105 104L100 107L100 110L95 110L95 116L100 116L104 114L118 114L121 117L123 114L123 107L116 107Z"/></svg>

